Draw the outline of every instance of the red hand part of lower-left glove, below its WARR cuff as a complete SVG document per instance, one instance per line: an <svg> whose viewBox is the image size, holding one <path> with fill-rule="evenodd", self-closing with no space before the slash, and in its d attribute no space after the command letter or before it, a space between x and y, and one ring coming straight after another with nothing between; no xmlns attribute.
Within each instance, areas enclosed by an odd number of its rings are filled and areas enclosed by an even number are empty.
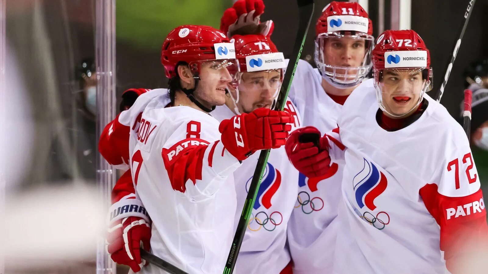
<svg viewBox="0 0 488 274"><path fill-rule="evenodd" d="M141 244L151 248L151 228L141 217L126 217L113 222L107 233L107 251L118 264L128 265L134 272L141 270Z"/></svg>

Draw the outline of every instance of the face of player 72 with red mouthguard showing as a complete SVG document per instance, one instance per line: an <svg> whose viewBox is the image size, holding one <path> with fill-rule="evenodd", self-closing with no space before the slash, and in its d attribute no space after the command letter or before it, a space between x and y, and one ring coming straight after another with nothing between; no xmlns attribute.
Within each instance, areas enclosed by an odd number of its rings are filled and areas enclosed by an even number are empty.
<svg viewBox="0 0 488 274"><path fill-rule="evenodd" d="M420 70L384 70L382 98L386 110L396 116L415 111L426 81Z"/></svg>

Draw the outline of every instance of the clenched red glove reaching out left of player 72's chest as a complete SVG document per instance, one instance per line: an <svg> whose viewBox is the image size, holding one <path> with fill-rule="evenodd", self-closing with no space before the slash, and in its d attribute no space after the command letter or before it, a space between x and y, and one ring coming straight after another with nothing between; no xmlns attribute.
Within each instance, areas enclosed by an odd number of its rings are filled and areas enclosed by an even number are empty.
<svg viewBox="0 0 488 274"><path fill-rule="evenodd" d="M330 167L328 141L315 127L293 131L286 140L285 150L293 166L309 178L325 175Z"/></svg>

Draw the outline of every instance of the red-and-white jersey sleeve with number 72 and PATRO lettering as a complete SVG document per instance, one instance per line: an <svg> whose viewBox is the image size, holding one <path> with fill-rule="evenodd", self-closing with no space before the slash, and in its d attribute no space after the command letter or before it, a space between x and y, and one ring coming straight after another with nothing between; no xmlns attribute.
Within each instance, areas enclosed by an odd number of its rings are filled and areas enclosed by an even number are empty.
<svg viewBox="0 0 488 274"><path fill-rule="evenodd" d="M468 139L456 143L446 146L432 183L419 192L440 226L440 250L452 274L466 273L463 266L488 251L485 203Z"/></svg>

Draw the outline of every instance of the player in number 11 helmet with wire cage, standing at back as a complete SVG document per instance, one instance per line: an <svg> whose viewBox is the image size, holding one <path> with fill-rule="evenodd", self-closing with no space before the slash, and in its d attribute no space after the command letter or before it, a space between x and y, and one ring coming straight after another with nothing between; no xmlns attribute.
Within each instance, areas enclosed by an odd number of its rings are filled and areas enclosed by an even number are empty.
<svg viewBox="0 0 488 274"><path fill-rule="evenodd" d="M301 60L289 96L305 126L328 132L337 127L344 102L370 71L373 26L358 3L333 1L323 9L315 30L317 69ZM330 273L341 229L337 210L344 161L334 160L328 173L318 176L321 161L310 160L302 163L299 195L288 224L295 274Z"/></svg>

